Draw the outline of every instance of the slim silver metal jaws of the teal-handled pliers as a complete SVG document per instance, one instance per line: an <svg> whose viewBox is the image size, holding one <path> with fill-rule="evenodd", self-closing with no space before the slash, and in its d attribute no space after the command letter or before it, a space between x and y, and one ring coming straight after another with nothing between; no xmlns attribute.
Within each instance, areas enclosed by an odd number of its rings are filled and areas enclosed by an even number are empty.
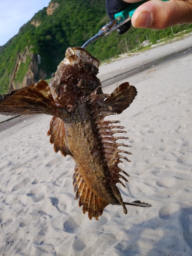
<svg viewBox="0 0 192 256"><path fill-rule="evenodd" d="M84 43L84 45L81 46L81 48L85 49L86 47L88 47L89 45L92 44L92 42L96 41L98 38L104 36L104 35L108 35L111 32L118 30L118 28L123 25L124 23L128 22L131 18L130 17L126 17L126 18L122 18L122 17L117 17L115 20L113 20L112 22L104 25L99 32L94 35L93 37L91 37L87 42Z"/></svg>

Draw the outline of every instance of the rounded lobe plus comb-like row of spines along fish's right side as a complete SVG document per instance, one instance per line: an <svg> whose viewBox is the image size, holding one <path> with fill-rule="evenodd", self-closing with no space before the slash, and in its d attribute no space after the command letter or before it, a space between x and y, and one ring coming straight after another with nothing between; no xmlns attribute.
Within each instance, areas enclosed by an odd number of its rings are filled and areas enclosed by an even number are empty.
<svg viewBox="0 0 192 256"><path fill-rule="evenodd" d="M129 147L129 145L117 143L116 140L129 138L124 136L113 136L115 133L126 133L122 130L124 127L116 125L116 123L118 123L119 121L105 121L104 117L116 113L120 114L131 104L136 94L137 91L135 87L130 86L130 84L126 82L122 83L117 89L115 89L115 91L112 92L111 95L100 95L96 92L93 92L89 102L92 109L93 118L97 125L100 143L102 145L101 151L105 170L106 173L108 173L109 175L109 186L111 187L113 195L118 202L114 202L114 204L121 204L123 206L125 214L127 213L127 209L121 197L120 191L116 186L116 183L120 183L125 187L120 179L127 181L125 176L129 177L129 174L124 172L124 170L122 170L118 166L118 164L122 162L121 159L124 159L128 162L130 162L130 160L127 159L124 155L120 155L120 153L130 155L131 153L118 148L119 146ZM125 176L120 173L124 174Z"/></svg>

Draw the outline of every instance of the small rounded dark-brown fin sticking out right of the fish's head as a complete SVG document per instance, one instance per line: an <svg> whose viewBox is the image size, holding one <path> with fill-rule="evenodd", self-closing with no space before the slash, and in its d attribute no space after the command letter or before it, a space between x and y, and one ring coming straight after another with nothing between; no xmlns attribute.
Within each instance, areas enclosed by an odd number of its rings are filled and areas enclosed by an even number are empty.
<svg viewBox="0 0 192 256"><path fill-rule="evenodd" d="M136 95L136 88L130 86L129 82L124 82L110 94L109 98L105 100L105 104L111 106L113 112L121 114L130 106Z"/></svg>

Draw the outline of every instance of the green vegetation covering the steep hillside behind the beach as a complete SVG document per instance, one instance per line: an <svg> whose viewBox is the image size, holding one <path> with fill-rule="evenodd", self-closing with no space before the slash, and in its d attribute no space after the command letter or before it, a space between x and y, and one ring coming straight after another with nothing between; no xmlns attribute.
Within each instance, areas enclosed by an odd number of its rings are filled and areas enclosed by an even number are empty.
<svg viewBox="0 0 192 256"><path fill-rule="evenodd" d="M0 93L9 91L10 82L22 84L29 68L31 55L38 56L38 80L40 71L49 79L57 69L58 63L65 57L68 47L82 46L90 37L109 22L105 13L105 0L52 0L49 8L37 12L19 33L6 45L0 47ZM192 25L173 27L173 32L192 28ZM113 32L100 38L87 48L99 60L105 60L126 52L125 40L129 50L139 47L139 42L156 40L172 36L170 28L163 31L134 29L124 35ZM27 53L26 53L27 52ZM19 56L25 55L23 60ZM15 74L14 74L15 72Z"/></svg>

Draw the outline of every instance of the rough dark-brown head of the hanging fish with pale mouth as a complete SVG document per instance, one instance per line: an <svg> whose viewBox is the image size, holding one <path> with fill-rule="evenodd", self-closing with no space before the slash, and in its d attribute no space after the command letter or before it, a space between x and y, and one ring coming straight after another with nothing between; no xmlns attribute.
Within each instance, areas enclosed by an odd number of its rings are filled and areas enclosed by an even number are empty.
<svg viewBox="0 0 192 256"><path fill-rule="evenodd" d="M74 112L83 98L101 86L99 60L81 47L68 48L49 86L55 104Z"/></svg>

